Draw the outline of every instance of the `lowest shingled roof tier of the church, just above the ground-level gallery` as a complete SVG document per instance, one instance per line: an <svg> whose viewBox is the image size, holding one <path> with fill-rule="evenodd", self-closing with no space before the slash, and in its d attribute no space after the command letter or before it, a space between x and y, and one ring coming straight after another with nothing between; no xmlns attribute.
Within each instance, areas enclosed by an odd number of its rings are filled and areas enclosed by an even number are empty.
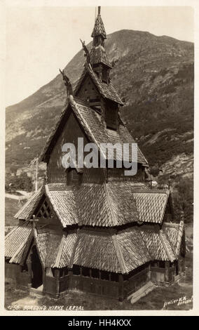
<svg viewBox="0 0 199 330"><path fill-rule="evenodd" d="M32 230L25 222L6 236L6 257L11 258L10 263L21 263L34 238L44 268L80 265L126 274L150 260L173 262L178 258L179 250L174 246L181 244L183 223L172 226L172 238L167 235L168 227L171 225L154 230L152 226L135 225L118 232L83 227L52 234L48 229L46 232L40 228ZM18 239L15 239L16 231Z"/></svg>

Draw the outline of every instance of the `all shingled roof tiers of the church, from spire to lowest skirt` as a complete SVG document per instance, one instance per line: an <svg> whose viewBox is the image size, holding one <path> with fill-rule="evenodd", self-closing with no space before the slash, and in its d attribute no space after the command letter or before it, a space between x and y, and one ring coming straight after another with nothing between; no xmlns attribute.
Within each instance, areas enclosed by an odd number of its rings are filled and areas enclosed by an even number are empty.
<svg viewBox="0 0 199 330"><path fill-rule="evenodd" d="M92 37L97 36L107 38L100 13L92 32ZM91 49L90 58L91 65L103 62L110 67L102 44ZM100 81L91 65L85 65L74 95L78 95L88 75L102 98L123 105L111 82ZM52 151L71 112L88 140L97 145L106 159L108 155L100 149L101 143L135 143L121 119L117 131L106 129L99 113L88 103L69 95L67 106L41 152L41 160ZM122 160L129 160L128 156L134 160L134 154L125 152ZM139 148L137 162L148 166ZM150 260L173 262L179 256L184 225L163 223L169 195L169 190L149 190L144 182L104 180L104 183L81 183L72 188L64 183L45 185L15 215L24 223L6 235L6 258L10 263L23 263L34 239L43 268L80 265L126 274ZM54 227L50 221L45 226L38 221L36 227L29 223L44 197L52 211L52 222L58 219L60 226L56 221Z"/></svg>

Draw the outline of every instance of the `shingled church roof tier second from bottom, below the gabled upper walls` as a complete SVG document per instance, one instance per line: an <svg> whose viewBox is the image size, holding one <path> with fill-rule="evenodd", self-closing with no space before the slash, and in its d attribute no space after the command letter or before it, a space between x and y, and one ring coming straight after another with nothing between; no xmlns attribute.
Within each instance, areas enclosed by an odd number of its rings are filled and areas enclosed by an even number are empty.
<svg viewBox="0 0 199 330"><path fill-rule="evenodd" d="M163 223L169 190L149 190L144 184L130 182L109 182L81 183L67 190L46 185L43 194L62 227L76 224L115 227L136 222ZM37 192L27 202L29 211L23 206L15 218L32 218L40 200L41 192Z"/></svg>

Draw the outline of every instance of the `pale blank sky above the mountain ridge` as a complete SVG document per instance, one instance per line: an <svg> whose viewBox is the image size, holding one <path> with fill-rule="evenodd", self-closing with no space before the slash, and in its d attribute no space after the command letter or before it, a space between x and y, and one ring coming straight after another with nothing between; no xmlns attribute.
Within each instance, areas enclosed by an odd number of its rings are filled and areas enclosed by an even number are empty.
<svg viewBox="0 0 199 330"><path fill-rule="evenodd" d="M79 39L91 40L95 8L6 8L6 106L48 84L80 51ZM193 41L193 8L188 6L104 6L101 15L107 34L133 29Z"/></svg>

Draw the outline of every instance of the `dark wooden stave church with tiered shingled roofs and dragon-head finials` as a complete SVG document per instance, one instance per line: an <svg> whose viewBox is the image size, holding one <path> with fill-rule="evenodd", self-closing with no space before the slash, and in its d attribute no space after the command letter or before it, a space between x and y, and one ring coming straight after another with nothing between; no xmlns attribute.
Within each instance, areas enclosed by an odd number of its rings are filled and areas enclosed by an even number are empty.
<svg viewBox="0 0 199 330"><path fill-rule="evenodd" d="M137 150L137 173L124 166L62 166L62 145L135 143L111 83L112 63L100 7L83 72L66 86L66 104L43 148L46 181L15 218L5 239L5 273L16 286L54 298L71 289L123 301L151 285L169 286L184 274L184 220L174 218L169 186L154 189ZM133 157L133 154L130 155ZM124 159L122 159L123 161Z"/></svg>

